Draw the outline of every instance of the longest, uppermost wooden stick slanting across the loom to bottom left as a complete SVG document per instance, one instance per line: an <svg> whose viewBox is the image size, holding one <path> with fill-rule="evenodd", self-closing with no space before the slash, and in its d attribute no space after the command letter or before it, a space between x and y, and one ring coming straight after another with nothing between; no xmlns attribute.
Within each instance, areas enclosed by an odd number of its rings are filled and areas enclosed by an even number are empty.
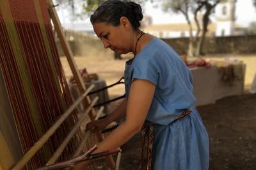
<svg viewBox="0 0 256 170"><path fill-rule="evenodd" d="M49 137L56 131L58 127L60 127L61 123L66 120L66 118L71 114L71 112L77 107L77 105L83 100L86 95L92 90L94 85L92 84L81 97L77 98L76 102L74 102L68 109L65 111L59 120L57 120L54 125L52 125L47 132L34 144L34 146L20 159L20 161L12 168L13 170L22 169L28 161L35 155L36 151L40 150L42 146L48 141Z"/></svg>

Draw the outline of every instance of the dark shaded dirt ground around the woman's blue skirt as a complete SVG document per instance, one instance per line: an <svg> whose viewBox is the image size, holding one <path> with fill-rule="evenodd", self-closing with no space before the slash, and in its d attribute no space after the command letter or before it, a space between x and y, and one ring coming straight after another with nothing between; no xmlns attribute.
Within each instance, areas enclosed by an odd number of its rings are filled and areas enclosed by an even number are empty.
<svg viewBox="0 0 256 170"><path fill-rule="evenodd" d="M226 97L197 109L209 133L209 169L256 169L256 95ZM140 135L122 150L120 169L138 169Z"/></svg>

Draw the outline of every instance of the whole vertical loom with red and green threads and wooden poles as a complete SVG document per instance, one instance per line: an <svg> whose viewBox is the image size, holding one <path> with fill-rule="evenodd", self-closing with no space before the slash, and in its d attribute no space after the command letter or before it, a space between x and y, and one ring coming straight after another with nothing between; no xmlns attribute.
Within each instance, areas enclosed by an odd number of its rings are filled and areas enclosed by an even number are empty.
<svg viewBox="0 0 256 170"><path fill-rule="evenodd" d="M81 96L72 102L52 35L51 20ZM51 0L1 0L0 5L0 169L36 169L74 158L89 132L79 130L95 112L77 70ZM76 107L84 112L77 118ZM103 136L96 132L97 139ZM88 148L87 148L88 149ZM110 155L109 169L118 169Z"/></svg>

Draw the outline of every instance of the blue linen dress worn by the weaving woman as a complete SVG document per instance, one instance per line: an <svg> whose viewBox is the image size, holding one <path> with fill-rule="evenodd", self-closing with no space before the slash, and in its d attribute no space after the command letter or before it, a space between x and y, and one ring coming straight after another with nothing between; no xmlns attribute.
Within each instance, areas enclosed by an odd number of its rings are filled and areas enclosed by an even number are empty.
<svg viewBox="0 0 256 170"><path fill-rule="evenodd" d="M154 125L152 167L204 170L209 167L209 138L193 95L193 77L179 55L154 37L125 64L125 94L134 79L156 85L146 121ZM172 123L183 111L191 113Z"/></svg>

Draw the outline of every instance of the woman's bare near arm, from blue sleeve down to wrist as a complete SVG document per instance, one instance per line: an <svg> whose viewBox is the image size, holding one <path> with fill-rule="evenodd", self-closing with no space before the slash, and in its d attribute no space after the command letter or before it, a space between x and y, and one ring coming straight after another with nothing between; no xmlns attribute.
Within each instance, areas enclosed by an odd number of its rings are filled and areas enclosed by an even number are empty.
<svg viewBox="0 0 256 170"><path fill-rule="evenodd" d="M147 117L156 86L149 81L136 79L131 84L127 100L126 119L118 128L97 144L94 153L118 148L140 132ZM114 118L114 117L113 117Z"/></svg>

